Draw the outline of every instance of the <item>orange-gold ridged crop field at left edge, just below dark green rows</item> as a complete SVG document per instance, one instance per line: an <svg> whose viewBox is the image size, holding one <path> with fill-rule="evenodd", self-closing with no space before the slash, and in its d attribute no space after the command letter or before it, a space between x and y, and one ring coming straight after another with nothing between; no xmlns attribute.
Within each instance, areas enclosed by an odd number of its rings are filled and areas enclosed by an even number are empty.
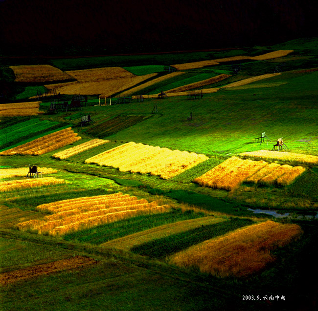
<svg viewBox="0 0 318 311"><path fill-rule="evenodd" d="M41 155L72 144L81 137L68 127L60 131L37 138L29 143L0 152L0 155Z"/></svg>

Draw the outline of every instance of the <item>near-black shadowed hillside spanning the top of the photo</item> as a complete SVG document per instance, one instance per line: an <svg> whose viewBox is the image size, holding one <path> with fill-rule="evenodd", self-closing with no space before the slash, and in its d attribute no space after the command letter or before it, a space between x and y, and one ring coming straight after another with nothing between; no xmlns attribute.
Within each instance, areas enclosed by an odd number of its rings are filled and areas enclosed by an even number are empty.
<svg viewBox="0 0 318 311"><path fill-rule="evenodd" d="M2 53L110 54L270 45L316 36L313 0L4 0Z"/></svg>

